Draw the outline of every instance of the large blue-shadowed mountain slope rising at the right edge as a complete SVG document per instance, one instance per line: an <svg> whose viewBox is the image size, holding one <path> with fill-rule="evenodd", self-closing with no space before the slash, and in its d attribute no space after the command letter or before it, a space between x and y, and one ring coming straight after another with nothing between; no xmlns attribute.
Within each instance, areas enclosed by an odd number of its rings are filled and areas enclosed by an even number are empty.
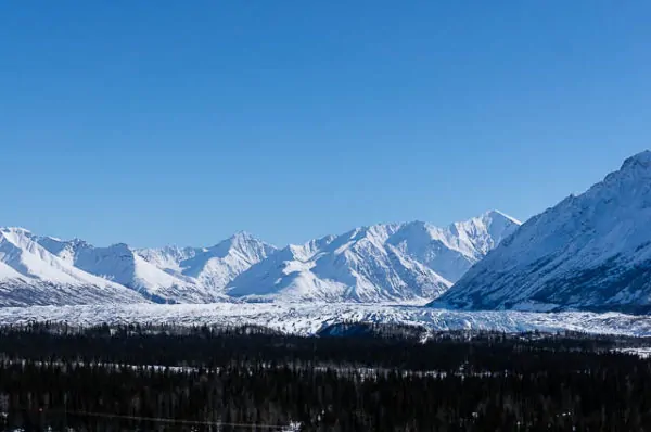
<svg viewBox="0 0 651 432"><path fill-rule="evenodd" d="M526 221L436 306L651 310L651 152Z"/></svg>

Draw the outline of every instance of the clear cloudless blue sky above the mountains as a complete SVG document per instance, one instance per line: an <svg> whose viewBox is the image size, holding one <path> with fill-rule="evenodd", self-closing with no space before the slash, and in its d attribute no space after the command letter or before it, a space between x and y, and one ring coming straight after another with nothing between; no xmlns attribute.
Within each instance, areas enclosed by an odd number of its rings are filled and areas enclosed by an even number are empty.
<svg viewBox="0 0 651 432"><path fill-rule="evenodd" d="M649 1L7 1L0 226L521 219L651 147Z"/></svg>

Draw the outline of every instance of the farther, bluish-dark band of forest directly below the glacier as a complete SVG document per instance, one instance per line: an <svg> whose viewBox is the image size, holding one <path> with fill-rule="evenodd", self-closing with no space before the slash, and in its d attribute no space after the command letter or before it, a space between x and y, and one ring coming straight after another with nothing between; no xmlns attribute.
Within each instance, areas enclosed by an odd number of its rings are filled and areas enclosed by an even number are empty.
<svg viewBox="0 0 651 432"><path fill-rule="evenodd" d="M99 326L71 329L31 323L0 327L0 355L34 360L76 360L129 365L224 367L246 363L272 365L456 370L546 370L561 363L589 367L600 358L585 354L618 346L648 346L650 340L582 333L542 335L500 332L445 332L368 323L337 325L319 338L281 334L263 327ZM337 336L333 336L337 334ZM536 354L532 355L531 352ZM521 354L522 352L522 354ZM567 352L563 360L558 353ZM631 359L633 360L633 359Z"/></svg>

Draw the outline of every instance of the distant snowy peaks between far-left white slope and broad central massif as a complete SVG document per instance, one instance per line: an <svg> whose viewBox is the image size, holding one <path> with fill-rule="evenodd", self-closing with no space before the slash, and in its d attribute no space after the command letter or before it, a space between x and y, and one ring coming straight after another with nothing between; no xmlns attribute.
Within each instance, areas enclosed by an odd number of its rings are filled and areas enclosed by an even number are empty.
<svg viewBox="0 0 651 432"><path fill-rule="evenodd" d="M81 240L36 238L71 266L119 283L158 303L210 303L228 300L224 288L241 271L275 251L247 233L213 247L133 250L124 243L95 247Z"/></svg>

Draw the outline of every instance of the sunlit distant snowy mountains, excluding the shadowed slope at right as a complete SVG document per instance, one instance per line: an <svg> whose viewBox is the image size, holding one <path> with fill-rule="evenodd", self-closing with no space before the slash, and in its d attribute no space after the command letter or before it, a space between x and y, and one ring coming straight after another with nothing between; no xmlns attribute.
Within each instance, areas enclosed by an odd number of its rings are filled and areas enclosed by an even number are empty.
<svg viewBox="0 0 651 432"><path fill-rule="evenodd" d="M438 228L380 224L277 249L246 232L210 247L97 247L0 229L0 305L432 300L520 225L500 212Z"/></svg>

